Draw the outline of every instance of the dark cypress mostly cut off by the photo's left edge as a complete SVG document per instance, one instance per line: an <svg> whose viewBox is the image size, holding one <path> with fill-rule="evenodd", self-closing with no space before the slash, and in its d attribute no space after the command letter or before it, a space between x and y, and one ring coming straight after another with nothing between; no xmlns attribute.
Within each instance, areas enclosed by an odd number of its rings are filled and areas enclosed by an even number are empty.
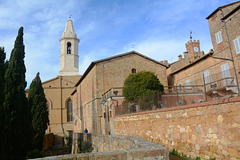
<svg viewBox="0 0 240 160"><path fill-rule="evenodd" d="M4 75L5 75L5 61L6 58L6 53L4 52L4 48L0 47L0 137L2 141L4 141L4 126L5 123L3 122L4 120L4 113L3 113L3 102L4 102ZM2 155L3 151L3 144L5 143L0 143L0 155Z"/></svg>

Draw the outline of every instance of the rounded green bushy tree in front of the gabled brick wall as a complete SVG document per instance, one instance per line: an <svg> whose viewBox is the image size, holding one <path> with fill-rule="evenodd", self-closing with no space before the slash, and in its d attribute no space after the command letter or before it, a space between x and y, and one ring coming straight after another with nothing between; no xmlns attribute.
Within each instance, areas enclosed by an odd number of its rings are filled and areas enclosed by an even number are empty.
<svg viewBox="0 0 240 160"><path fill-rule="evenodd" d="M163 85L157 76L150 71L130 74L123 86L125 102L137 102L138 99L153 95L156 91L163 91Z"/></svg>

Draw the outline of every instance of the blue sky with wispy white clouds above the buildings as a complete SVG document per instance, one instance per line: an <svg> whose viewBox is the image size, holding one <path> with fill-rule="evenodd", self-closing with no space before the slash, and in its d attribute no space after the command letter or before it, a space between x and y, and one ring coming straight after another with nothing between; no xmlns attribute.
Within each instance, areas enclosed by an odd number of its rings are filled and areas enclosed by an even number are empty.
<svg viewBox="0 0 240 160"><path fill-rule="evenodd" d="M155 60L176 61L189 32L207 53L212 48L205 19L233 0L0 0L0 46L7 59L24 27L26 80L42 81L60 68L59 39L72 14L79 43L79 71L92 61L134 50Z"/></svg>

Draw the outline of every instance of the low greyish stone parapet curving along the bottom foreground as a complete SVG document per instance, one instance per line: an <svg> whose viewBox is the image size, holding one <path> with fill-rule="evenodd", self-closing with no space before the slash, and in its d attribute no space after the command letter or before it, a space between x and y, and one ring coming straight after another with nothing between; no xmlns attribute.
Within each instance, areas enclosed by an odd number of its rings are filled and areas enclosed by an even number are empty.
<svg viewBox="0 0 240 160"><path fill-rule="evenodd" d="M76 146L73 148L78 147L81 141L92 142L93 151L98 152L45 157L38 160L169 160L168 149L139 137L76 133L73 136Z"/></svg>

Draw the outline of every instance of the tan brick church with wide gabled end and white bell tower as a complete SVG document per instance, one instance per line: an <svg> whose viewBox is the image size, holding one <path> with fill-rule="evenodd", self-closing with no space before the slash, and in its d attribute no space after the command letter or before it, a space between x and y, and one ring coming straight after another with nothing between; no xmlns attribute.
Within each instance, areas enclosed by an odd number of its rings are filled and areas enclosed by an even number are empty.
<svg viewBox="0 0 240 160"><path fill-rule="evenodd" d="M78 43L69 18L60 39L59 75L42 83L49 108L47 133L55 135L55 144L61 144L63 136L85 128L91 133L104 133L101 96L112 87L122 87L129 74L152 71L167 85L167 66L136 51L94 61L81 76Z"/></svg>

